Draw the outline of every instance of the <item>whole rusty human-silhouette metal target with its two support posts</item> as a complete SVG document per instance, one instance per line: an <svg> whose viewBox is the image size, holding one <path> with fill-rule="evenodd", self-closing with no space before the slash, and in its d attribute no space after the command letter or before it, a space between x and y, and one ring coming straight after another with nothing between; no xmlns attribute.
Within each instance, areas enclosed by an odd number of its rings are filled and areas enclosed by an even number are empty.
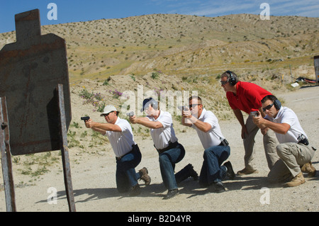
<svg viewBox="0 0 319 226"><path fill-rule="evenodd" d="M67 128L72 119L63 38L41 35L40 11L15 16L16 43L0 50L0 147L7 211L16 211L11 155L62 152L69 211L75 211Z"/></svg>

